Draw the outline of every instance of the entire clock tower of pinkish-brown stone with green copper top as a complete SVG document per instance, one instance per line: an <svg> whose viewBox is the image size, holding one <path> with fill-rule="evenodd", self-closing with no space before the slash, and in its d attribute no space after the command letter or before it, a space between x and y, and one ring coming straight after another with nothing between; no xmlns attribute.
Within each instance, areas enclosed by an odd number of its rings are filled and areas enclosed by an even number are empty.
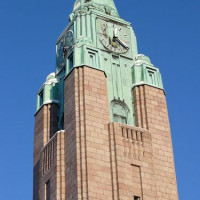
<svg viewBox="0 0 200 200"><path fill-rule="evenodd" d="M37 94L33 200L178 200L161 74L113 0L77 0Z"/></svg>

